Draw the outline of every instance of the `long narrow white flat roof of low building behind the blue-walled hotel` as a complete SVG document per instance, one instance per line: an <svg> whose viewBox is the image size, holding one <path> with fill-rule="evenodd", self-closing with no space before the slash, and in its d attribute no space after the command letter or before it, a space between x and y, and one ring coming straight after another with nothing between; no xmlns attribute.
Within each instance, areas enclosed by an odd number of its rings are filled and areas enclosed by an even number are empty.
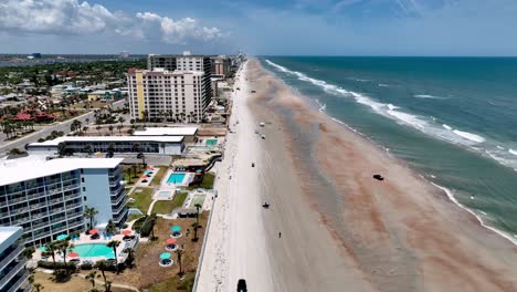
<svg viewBox="0 0 517 292"><path fill-rule="evenodd" d="M163 142L179 143L183 136L64 136L55 139L31 143L29 146L57 146L62 142Z"/></svg>

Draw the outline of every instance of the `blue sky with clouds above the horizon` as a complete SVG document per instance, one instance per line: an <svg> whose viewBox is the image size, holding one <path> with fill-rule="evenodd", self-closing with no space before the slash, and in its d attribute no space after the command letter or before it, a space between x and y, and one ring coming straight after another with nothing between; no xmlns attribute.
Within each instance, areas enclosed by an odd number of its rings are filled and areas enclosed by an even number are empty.
<svg viewBox="0 0 517 292"><path fill-rule="evenodd" d="M516 0L0 0L0 53L517 55Z"/></svg>

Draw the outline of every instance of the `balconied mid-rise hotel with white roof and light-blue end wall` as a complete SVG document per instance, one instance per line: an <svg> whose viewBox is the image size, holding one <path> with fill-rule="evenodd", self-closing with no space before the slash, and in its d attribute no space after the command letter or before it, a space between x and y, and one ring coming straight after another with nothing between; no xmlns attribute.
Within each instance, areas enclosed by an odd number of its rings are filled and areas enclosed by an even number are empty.
<svg viewBox="0 0 517 292"><path fill-rule="evenodd" d="M122 226L128 216L122 158L29 156L0 161L0 226L23 228L25 244L39 247L59 234L84 231L85 207L94 227Z"/></svg>

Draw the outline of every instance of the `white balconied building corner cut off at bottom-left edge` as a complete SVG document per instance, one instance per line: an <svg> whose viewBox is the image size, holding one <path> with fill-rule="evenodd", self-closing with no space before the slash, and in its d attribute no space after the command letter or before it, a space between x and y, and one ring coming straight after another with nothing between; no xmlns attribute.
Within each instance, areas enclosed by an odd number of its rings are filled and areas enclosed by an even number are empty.
<svg viewBox="0 0 517 292"><path fill-rule="evenodd" d="M0 227L0 291L31 291L27 282L29 270L27 259L21 254L24 246L20 242L23 234L21 227Z"/></svg>

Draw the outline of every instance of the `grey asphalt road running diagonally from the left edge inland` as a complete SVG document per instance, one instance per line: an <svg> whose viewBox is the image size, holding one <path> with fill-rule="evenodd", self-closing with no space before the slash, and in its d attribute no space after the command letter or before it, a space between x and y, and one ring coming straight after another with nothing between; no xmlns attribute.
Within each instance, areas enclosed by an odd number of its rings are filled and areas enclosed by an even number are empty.
<svg viewBox="0 0 517 292"><path fill-rule="evenodd" d="M118 102L115 102L113 103L113 107L114 108L122 108L124 106L124 100L123 101L118 101ZM66 134L70 133L70 125L72 124L72 122L74 122L75 119L80 121L81 123L83 123L83 126L86 125L86 118L89 118L89 124L93 124L94 122L94 113L93 111L92 112L88 112L84 115L81 115L78 117L75 117L75 118L72 118L72 119L68 119L68 121L65 121L65 122L62 122L62 123L59 123L59 124L55 124L55 125L52 125L52 126L46 126L46 127L41 127L40 129L36 129L36 132L34 133L31 133L24 137L21 137L19 139L15 139L15 140L12 140L12 142L2 142L0 144L0 157L3 157L7 155L7 153L12 149L12 148L19 148L20 150L24 150L25 148L25 144L30 144L30 143L34 143L34 142L38 142L39 138L42 138L42 137L46 137L49 136L52 131L63 131ZM126 121L128 121L126 118Z"/></svg>

